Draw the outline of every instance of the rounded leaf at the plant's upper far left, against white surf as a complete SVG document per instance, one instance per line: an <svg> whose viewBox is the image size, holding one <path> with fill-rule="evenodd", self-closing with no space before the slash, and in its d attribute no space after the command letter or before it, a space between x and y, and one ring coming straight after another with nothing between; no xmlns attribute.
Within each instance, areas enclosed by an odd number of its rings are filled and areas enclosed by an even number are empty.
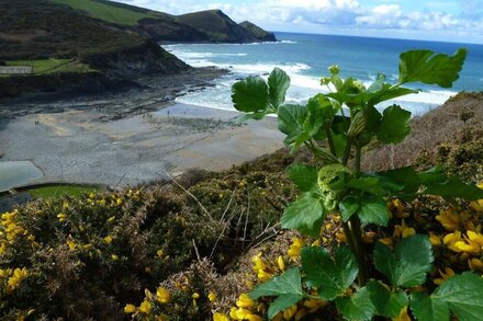
<svg viewBox="0 0 483 321"><path fill-rule="evenodd" d="M268 107L268 87L261 77L248 77L232 88L232 101L239 112L263 112Z"/></svg>

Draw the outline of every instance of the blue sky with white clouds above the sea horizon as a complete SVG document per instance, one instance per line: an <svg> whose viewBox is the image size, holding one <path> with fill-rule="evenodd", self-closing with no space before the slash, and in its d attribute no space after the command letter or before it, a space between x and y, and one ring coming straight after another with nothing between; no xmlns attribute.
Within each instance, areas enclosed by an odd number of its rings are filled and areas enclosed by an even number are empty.
<svg viewBox="0 0 483 321"><path fill-rule="evenodd" d="M221 9L269 31L483 44L483 0L116 0L171 14Z"/></svg>

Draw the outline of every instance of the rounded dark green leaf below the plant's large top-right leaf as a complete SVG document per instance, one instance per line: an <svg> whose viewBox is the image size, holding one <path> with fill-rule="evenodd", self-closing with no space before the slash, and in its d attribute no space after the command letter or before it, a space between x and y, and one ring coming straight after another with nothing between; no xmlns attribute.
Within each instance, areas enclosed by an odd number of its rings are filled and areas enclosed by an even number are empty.
<svg viewBox="0 0 483 321"><path fill-rule="evenodd" d="M398 144L409 134L411 112L398 105L392 105L382 113L377 129L378 139L385 144Z"/></svg>

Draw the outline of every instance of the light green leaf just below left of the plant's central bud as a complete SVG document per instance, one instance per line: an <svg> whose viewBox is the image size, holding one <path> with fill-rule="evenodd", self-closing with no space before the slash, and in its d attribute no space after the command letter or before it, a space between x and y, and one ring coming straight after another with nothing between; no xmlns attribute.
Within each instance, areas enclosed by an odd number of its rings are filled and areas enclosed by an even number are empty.
<svg viewBox="0 0 483 321"><path fill-rule="evenodd" d="M285 208L281 225L284 229L297 229L301 232L317 236L319 229L316 229L316 222L325 216L321 196L315 193L304 193Z"/></svg>

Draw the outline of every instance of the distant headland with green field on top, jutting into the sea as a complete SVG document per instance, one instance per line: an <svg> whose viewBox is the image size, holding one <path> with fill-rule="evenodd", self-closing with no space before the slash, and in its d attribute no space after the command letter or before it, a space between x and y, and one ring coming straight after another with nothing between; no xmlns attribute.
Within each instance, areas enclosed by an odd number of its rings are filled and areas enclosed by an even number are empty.
<svg viewBox="0 0 483 321"><path fill-rule="evenodd" d="M157 42L252 43L276 42L252 23L238 25L220 10L171 15L106 0L50 0L68 5L91 18L131 28Z"/></svg>

